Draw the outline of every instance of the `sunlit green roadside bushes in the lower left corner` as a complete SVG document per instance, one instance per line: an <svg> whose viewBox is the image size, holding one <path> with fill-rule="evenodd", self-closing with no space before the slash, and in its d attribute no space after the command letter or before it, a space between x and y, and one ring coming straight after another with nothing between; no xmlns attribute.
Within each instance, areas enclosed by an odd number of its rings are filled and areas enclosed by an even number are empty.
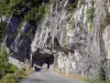
<svg viewBox="0 0 110 83"><path fill-rule="evenodd" d="M9 63L9 54L3 46L0 51L0 83L19 83L23 75L25 75L23 70Z"/></svg>

